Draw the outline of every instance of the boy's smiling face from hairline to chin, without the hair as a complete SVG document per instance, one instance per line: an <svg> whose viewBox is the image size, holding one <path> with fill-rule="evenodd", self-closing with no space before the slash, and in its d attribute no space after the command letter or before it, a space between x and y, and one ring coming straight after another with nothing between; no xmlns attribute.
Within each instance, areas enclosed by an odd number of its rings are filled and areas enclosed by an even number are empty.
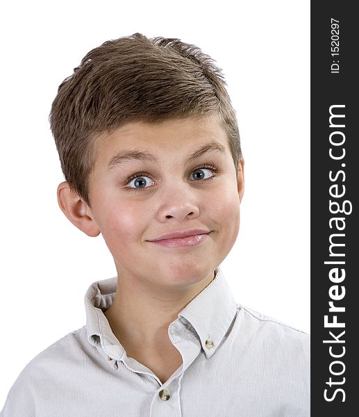
<svg viewBox="0 0 359 417"><path fill-rule="evenodd" d="M140 279L151 288L185 287L212 276L237 238L244 189L243 165L237 181L219 122L133 122L99 139L89 180L92 207L86 213L101 231L119 276ZM187 161L208 144L207 152ZM120 159L127 152L146 152L157 162ZM151 241L190 229L210 233L197 238L197 245Z"/></svg>

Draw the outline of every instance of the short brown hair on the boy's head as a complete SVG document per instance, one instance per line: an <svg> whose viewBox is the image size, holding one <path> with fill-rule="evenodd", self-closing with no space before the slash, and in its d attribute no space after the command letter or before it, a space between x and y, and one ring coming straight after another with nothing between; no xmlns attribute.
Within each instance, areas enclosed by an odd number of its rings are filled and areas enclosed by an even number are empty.
<svg viewBox="0 0 359 417"><path fill-rule="evenodd" d="M219 115L237 172L240 134L225 86L215 61L179 39L135 33L92 49L60 84L49 115L65 180L90 206L99 133L211 114Z"/></svg>

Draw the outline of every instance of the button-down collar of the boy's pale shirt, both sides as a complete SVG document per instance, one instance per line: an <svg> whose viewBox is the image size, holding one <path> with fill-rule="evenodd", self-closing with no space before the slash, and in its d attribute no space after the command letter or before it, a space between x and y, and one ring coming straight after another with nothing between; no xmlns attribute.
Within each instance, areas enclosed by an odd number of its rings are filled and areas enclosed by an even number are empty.
<svg viewBox="0 0 359 417"><path fill-rule="evenodd" d="M103 356L121 359L124 347L112 333L104 311L110 308L117 287L117 277L94 282L85 294L87 339L96 346ZM215 353L231 327L237 312L233 298L220 268L215 270L215 278L194 299L178 313L176 322L192 328L199 337L201 347L209 359ZM188 323L190 326L188 326ZM177 323L179 324L179 323ZM206 343L207 342L207 343Z"/></svg>

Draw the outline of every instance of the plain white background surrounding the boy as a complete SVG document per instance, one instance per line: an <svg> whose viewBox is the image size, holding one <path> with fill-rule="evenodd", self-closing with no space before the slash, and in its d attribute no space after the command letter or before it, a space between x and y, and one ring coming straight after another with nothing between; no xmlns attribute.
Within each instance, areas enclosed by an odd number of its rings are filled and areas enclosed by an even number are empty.
<svg viewBox="0 0 359 417"><path fill-rule="evenodd" d="M87 51L135 32L197 44L222 67L245 159L240 234L222 263L237 302L310 332L310 78L306 1L14 1L1 10L1 383L85 324L116 275L103 238L62 214L48 115Z"/></svg>

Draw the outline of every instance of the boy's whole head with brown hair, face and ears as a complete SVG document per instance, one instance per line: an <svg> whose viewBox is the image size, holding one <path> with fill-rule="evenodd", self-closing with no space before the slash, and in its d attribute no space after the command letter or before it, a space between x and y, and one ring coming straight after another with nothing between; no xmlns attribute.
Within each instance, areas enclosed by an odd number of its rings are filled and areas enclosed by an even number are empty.
<svg viewBox="0 0 359 417"><path fill-rule="evenodd" d="M67 180L60 207L102 234L119 275L151 288L212 277L237 238L244 162L208 56L140 34L105 42L60 85L51 129ZM174 232L192 238L165 239Z"/></svg>

